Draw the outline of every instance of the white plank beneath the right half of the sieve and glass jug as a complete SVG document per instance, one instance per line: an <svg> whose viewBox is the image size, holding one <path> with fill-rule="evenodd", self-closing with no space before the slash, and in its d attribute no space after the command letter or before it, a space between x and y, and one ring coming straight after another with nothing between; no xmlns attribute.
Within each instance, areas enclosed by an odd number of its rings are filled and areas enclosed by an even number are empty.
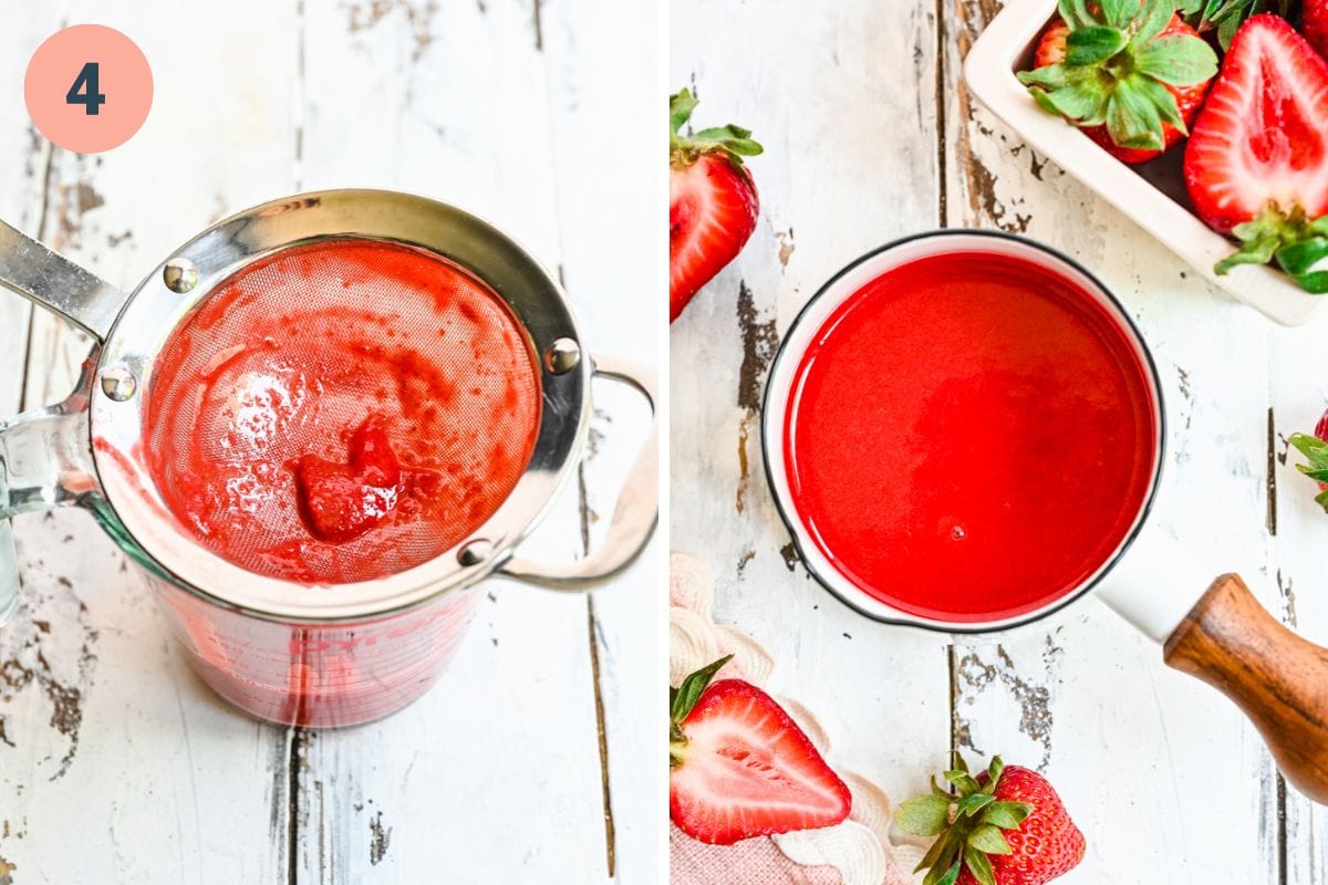
<svg viewBox="0 0 1328 885"><path fill-rule="evenodd" d="M309 4L305 15L305 187L458 203L559 263L556 72L531 3ZM568 494L529 552L564 560L580 549ZM382 723L301 738L296 881L607 880L586 602L489 589L425 698Z"/></svg>

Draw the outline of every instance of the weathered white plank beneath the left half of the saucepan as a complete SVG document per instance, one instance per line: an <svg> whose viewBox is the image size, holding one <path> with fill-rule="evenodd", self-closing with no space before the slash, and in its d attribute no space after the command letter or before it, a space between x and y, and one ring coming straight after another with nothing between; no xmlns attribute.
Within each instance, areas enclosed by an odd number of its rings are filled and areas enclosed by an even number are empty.
<svg viewBox="0 0 1328 885"><path fill-rule="evenodd" d="M673 548L708 564L716 620L774 654L776 691L826 723L839 766L899 799L950 748L935 637L866 621L797 564L768 491L760 398L780 336L817 288L939 204L935 9L854 0L671 7L672 89L696 121L752 129L756 234L671 330Z"/></svg>

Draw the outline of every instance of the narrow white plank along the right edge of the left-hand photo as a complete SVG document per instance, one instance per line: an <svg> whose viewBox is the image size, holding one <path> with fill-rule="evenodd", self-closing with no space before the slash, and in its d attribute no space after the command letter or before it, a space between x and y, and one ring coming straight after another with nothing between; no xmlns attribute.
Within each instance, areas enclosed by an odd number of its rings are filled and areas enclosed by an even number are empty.
<svg viewBox="0 0 1328 885"><path fill-rule="evenodd" d="M660 358L664 322L659 23L649 4L614 0L546 0L540 21L562 276L586 340L651 365ZM596 37L608 33L612 40ZM591 547L608 525L648 421L640 399L618 385L596 385L595 401L596 454L582 476ZM587 600L607 756L606 832L622 882L656 881L667 832L660 784L648 774L667 752L657 715L667 705L664 549L657 537L631 572Z"/></svg>

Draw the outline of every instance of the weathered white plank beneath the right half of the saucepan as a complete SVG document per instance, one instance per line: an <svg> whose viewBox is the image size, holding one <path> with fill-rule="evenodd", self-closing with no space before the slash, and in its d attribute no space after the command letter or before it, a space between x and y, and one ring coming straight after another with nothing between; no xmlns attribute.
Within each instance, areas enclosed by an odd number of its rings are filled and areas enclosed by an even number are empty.
<svg viewBox="0 0 1328 885"><path fill-rule="evenodd" d="M1154 349L1170 403L1169 488L1155 519L1214 575L1235 568L1272 601L1267 324L973 107L960 60L999 3L942 8L947 223L1028 234L1114 289ZM1276 880L1267 751L1234 707L1166 670L1161 650L1105 606L1085 601L1046 629L956 645L955 659L960 748L1050 775L1088 835L1076 881ZM1218 792L1214 772L1223 772Z"/></svg>

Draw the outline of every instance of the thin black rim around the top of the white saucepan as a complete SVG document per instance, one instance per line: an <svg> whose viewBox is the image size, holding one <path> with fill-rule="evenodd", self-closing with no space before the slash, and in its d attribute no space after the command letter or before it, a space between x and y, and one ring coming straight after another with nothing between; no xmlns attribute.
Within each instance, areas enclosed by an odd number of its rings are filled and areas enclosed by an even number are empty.
<svg viewBox="0 0 1328 885"><path fill-rule="evenodd" d="M799 523L794 521L794 520L797 520L797 516L790 512L791 511L791 503L789 504L789 508L785 508L785 502L780 498L780 494L776 491L776 487L774 487L774 475L770 472L770 442L769 442L768 435L765 433L765 418L764 417L765 417L765 414L768 414L766 410L770 406L770 395L772 395L770 378L773 378L776 375L776 372L780 368L780 361L784 360L788 356L786 350L788 350L788 345L789 345L789 338L793 337L794 330L797 330L797 328L806 320L806 314L813 308L813 305L815 305L822 297L825 297L825 295L846 273L849 273L850 271L853 271L858 265L863 264L865 261L870 261L871 259L876 257L878 255L880 255L883 252L888 252L891 249L895 249L895 248L898 248L900 245L906 245L906 244L912 243L915 240L930 240L930 239L948 238L948 236L984 236L984 238L991 238L991 239L996 239L996 240L1009 240L1009 241L1017 243L1017 244L1020 244L1023 247L1028 247L1028 248L1033 248L1033 249L1037 249L1040 252L1044 252L1044 253L1049 255L1050 257L1056 259L1057 261L1062 261L1066 267L1073 268L1078 273L1082 273L1084 277L1090 284L1093 284L1094 287L1097 287L1097 289L1106 297L1106 300L1112 304L1112 306L1116 308L1116 310L1118 312L1121 320L1125 322L1125 328L1130 332L1130 334L1134 336L1135 341L1138 341L1139 349L1142 350L1142 354L1143 354L1145 366L1147 368L1147 373L1149 373L1149 375L1153 379L1154 394L1157 395L1157 414L1158 414L1158 437L1159 437L1159 441L1158 441L1157 464L1153 468L1153 482L1151 482L1151 486L1149 487L1149 495L1147 495L1147 498L1143 502L1143 507L1139 510L1139 517L1135 521L1135 524L1131 527L1130 532L1125 536L1125 540L1121 543L1120 548L1112 555L1110 559L1106 560L1106 563L1104 563L1102 568L1100 568L1097 571L1097 573L1093 575L1093 577L1090 580L1085 581L1082 585L1080 585L1074 590L1066 593L1061 598L1058 598L1054 602L1052 602L1050 605L1048 605L1048 606L1037 610L1036 613L1032 613L1032 614L1028 614L1028 616L1023 616L1023 617L1019 617L1019 618L1013 618L1013 620L1009 620L1009 621L1001 621L999 625L981 625L981 624L979 624L979 625L971 625L971 626L969 625L963 625L963 624L944 624L943 625L943 624L932 624L932 622L928 622L927 620L912 620L912 618L908 618L908 617L898 617L898 618L884 617L884 616L876 614L874 612L866 610L863 606L858 605L853 598L850 598L846 593L843 593L838 588L835 588L834 581L829 580L826 576L823 576L819 572L817 572L817 569L807 561L806 553L802 549L802 541L798 537L798 531L799 529L797 527L798 527ZM798 354L798 356L801 357L801 354ZM1135 325L1134 320L1130 317L1129 310L1125 309L1125 305L1121 304L1121 300L1116 297L1116 295L1112 292L1112 289L1109 289L1097 277L1097 275L1094 275L1092 271L1089 271L1088 268L1085 268L1082 264L1080 264L1074 259L1069 257L1064 252L1060 252L1058 249L1053 249L1049 245L1044 245L1042 243L1038 243L1037 240L1032 240L1032 239L1025 238L1025 236L1016 236L1013 234L1007 234L1004 231L983 231L983 230L975 230L975 228L940 228L940 230L935 230L935 231L927 231L927 232L923 232L923 234L914 234L914 235L910 235L910 236L900 238L898 240L891 240L890 243L886 243L884 245L876 247L876 248L874 248L874 249L871 249L871 251L869 251L869 252L858 256L857 259L854 259L849 264L846 264L834 276L831 276L829 280L826 280L826 283L817 291L817 293L814 296L811 296L811 299L798 312L798 316L794 317L793 324L789 326L789 330L785 332L784 338L780 341L780 349L776 352L774 360L770 361L770 370L766 373L766 385L765 385L765 394L764 394L762 402L761 402L761 413L762 413L762 421L761 421L761 458L762 458L762 460L765 463L765 479L766 479L766 484L770 487L770 496L774 499L774 506L776 506L776 510L778 510L778 512L780 512L780 519L784 520L785 528L788 528L788 531L789 531L789 536L790 536L790 539L793 541L793 548L798 553L798 560L802 563L802 567L805 569L807 569L807 573L811 577L814 577L815 581L822 588L825 588L826 590L829 590L831 596L834 596L837 600L839 600L839 602L842 602L847 608L853 609L854 612L857 612L862 617L866 617L866 618L870 618L872 621L876 621L878 624L890 624L892 626L908 626L908 628L916 628L916 629L922 629L922 630L930 630L932 633L942 633L942 634L950 634L950 636L973 636L973 634L1003 633L1003 632L1007 632L1007 630L1015 630L1015 629L1027 626L1029 624L1035 624L1037 621L1041 621L1044 618L1048 618L1052 614L1054 614L1054 613L1060 612L1061 609L1064 609L1065 606L1068 606L1068 605L1078 601L1080 598L1082 598L1084 596L1086 596L1088 593L1090 593L1098 584L1101 584L1101 581L1102 581L1104 577L1106 577L1108 575L1112 573L1112 569L1114 569L1116 565L1121 561L1121 559L1129 552L1130 545L1134 543L1134 539L1138 537L1139 532L1143 529L1143 525L1147 523L1149 516L1150 516L1150 513L1153 511L1153 504L1157 500L1158 488L1162 486L1162 466L1166 463L1167 423L1166 423L1166 401L1165 401L1163 393L1162 393L1162 378L1158 374L1157 364L1153 361L1153 352L1149 349L1149 345L1147 345L1147 341L1143 337L1143 333L1139 332L1138 325ZM841 579L841 580L847 581L847 579ZM859 589L858 592L859 593L866 593L866 590L862 590L862 589ZM920 616L919 616L919 618L920 618Z"/></svg>

